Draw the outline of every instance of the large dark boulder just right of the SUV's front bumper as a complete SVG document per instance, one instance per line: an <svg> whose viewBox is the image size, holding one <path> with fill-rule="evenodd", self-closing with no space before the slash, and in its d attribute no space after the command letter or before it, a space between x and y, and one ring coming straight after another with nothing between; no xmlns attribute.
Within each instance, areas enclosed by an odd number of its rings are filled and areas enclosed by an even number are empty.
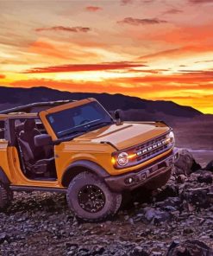
<svg viewBox="0 0 213 256"><path fill-rule="evenodd" d="M175 163L176 175L190 175L192 172L201 169L194 157L188 150L179 150L179 160Z"/></svg>

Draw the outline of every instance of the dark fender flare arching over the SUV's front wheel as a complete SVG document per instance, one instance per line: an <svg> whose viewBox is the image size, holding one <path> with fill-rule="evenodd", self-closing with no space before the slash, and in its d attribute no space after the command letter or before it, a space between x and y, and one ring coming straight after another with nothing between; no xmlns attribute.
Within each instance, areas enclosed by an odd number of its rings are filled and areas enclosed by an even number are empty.
<svg viewBox="0 0 213 256"><path fill-rule="evenodd" d="M92 173L96 174L97 176L101 178L105 178L107 176L110 176L110 174L103 169L102 166L100 166L97 163L91 162L89 160L78 160L73 163L71 163L65 170L62 178L61 178L61 184L64 187L67 187L69 183L72 181L72 179L78 175L78 173L84 171L85 169L91 171Z"/></svg>

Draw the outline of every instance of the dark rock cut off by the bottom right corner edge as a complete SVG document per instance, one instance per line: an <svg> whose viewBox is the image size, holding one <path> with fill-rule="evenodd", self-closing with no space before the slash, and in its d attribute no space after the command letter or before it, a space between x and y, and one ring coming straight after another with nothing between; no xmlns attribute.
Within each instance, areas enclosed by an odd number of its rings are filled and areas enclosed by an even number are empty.
<svg viewBox="0 0 213 256"><path fill-rule="evenodd" d="M213 250L199 240L172 242L166 256L213 256Z"/></svg>

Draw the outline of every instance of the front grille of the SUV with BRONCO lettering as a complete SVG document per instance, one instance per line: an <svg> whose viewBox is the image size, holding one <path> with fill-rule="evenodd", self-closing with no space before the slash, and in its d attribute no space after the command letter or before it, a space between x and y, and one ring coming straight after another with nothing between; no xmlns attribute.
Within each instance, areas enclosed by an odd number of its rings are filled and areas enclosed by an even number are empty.
<svg viewBox="0 0 213 256"><path fill-rule="evenodd" d="M152 157L156 157L166 150L172 148L172 143L166 143L168 134L154 138L147 143L139 144L135 147L135 153L137 154L136 161L138 163L147 161Z"/></svg>

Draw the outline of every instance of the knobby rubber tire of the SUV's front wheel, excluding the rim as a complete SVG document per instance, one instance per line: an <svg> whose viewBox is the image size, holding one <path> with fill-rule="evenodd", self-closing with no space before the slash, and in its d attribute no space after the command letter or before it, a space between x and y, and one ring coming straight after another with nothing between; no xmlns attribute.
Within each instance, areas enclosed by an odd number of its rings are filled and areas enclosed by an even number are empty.
<svg viewBox="0 0 213 256"><path fill-rule="evenodd" d="M105 197L103 208L96 213L86 211L78 202L79 190L87 185L97 186L102 190ZM69 208L71 208L79 219L90 222L103 221L111 217L116 214L122 203L121 194L111 191L101 178L89 171L81 172L72 179L67 189L66 199Z"/></svg>

